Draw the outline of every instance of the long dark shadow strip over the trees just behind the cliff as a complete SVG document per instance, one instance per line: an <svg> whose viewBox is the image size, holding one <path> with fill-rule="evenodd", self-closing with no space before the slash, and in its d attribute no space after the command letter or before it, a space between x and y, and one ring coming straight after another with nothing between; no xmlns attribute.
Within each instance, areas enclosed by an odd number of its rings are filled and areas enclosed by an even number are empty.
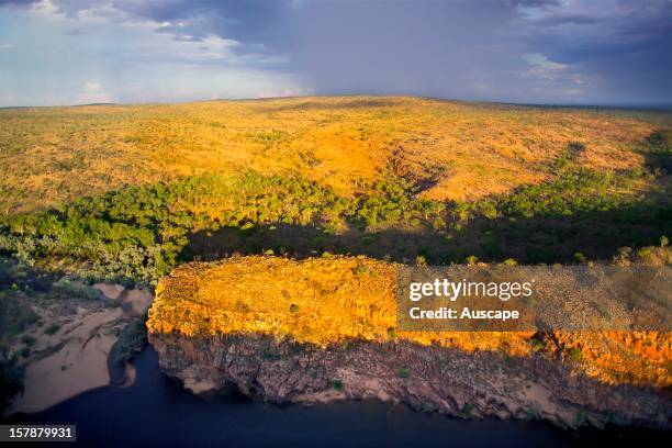
<svg viewBox="0 0 672 448"><path fill-rule="evenodd" d="M400 262L413 262L418 256L429 264L463 262L469 256L484 261L575 262L609 259L623 247L657 245L662 235L672 235L672 209L659 198L646 205L604 212L527 219L481 216L459 229L444 231L388 228L371 233L350 225L346 232L333 234L318 224L222 227L191 234L179 258L214 260L265 251L303 258L328 251Z"/></svg>

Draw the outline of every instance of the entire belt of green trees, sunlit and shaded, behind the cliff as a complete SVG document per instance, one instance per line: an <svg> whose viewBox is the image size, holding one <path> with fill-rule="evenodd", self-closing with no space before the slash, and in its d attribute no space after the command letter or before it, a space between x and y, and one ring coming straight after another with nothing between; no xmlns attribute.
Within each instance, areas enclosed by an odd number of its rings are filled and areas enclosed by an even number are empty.
<svg viewBox="0 0 672 448"><path fill-rule="evenodd" d="M651 146L668 160L660 145ZM475 202L422 199L403 178L343 197L298 177L186 177L2 216L0 249L27 265L65 261L83 277L154 283L180 261L232 253L582 262L672 234L669 191L652 182L664 166L597 171L575 161L580 150L570 145L546 182Z"/></svg>

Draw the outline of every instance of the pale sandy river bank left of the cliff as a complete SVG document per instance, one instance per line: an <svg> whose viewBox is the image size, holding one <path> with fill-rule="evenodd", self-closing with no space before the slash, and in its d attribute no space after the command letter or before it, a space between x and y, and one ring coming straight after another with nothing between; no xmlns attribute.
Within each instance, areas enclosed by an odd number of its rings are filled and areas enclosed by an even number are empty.
<svg viewBox="0 0 672 448"><path fill-rule="evenodd" d="M67 283L69 290L88 288ZM22 350L23 392L5 414L35 413L92 389L133 381L132 368L114 362L120 334L150 305L146 289L126 290L97 283L88 291L100 296L40 298L31 302L36 323L15 337L13 351ZM91 295L91 294L90 294Z"/></svg>

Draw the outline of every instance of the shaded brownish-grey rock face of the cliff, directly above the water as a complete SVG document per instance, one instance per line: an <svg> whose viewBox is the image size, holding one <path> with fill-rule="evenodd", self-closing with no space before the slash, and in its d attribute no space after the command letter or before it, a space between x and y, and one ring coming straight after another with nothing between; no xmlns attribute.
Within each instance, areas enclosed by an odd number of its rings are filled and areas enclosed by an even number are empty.
<svg viewBox="0 0 672 448"><path fill-rule="evenodd" d="M670 426L669 397L656 389L601 383L544 356L408 341L320 348L254 334L149 340L163 371L195 392L235 384L276 403L378 397L460 417Z"/></svg>

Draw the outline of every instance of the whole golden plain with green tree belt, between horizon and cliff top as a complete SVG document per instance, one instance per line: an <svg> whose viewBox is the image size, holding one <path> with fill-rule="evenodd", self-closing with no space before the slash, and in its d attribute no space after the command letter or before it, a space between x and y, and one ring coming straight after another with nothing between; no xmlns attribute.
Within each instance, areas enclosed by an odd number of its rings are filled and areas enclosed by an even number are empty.
<svg viewBox="0 0 672 448"><path fill-rule="evenodd" d="M672 234L665 113L351 97L0 123L0 251L88 279L234 253L583 262Z"/></svg>

